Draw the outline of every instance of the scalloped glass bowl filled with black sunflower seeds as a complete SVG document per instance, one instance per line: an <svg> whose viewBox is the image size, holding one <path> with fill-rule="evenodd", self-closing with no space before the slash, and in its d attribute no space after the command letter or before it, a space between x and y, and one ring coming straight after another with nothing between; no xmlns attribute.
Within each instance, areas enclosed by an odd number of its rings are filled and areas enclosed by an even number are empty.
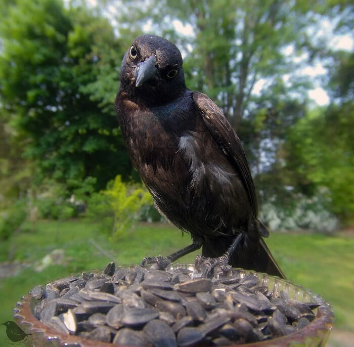
<svg viewBox="0 0 354 347"><path fill-rule="evenodd" d="M324 346L334 321L320 296L267 274L114 263L36 286L14 317L37 347Z"/></svg>

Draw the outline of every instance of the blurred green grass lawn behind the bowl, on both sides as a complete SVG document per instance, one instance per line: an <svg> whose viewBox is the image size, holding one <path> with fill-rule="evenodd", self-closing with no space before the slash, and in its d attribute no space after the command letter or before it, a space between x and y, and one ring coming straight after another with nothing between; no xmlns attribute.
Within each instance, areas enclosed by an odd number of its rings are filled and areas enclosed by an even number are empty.
<svg viewBox="0 0 354 347"><path fill-rule="evenodd" d="M2 242L0 263L10 256L29 267L15 277L0 279L0 323L12 319L16 302L37 284L102 268L112 260L119 265L139 263L145 255L166 255L191 242L189 235L182 237L167 224L139 224L116 242L97 230L97 225L85 219L39 221ZM354 331L354 238L273 233L267 244L287 278L323 296L334 308L336 327ZM64 264L36 272L34 264L58 248L64 249ZM197 253L186 255L180 262L193 263ZM4 338L5 328L0 325L0 341Z"/></svg>

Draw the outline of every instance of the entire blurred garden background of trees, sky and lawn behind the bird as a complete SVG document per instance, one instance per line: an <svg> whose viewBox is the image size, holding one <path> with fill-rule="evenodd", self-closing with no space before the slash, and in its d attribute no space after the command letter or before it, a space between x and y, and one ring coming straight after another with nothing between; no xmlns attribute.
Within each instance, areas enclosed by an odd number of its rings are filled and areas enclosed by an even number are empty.
<svg viewBox="0 0 354 347"><path fill-rule="evenodd" d="M354 334L354 37L346 0L0 0L0 321L39 283L187 245L154 209L114 99L142 33L236 129L288 279ZM193 262L195 254L182 259ZM0 329L0 345L5 329ZM345 342L347 339L347 342Z"/></svg>

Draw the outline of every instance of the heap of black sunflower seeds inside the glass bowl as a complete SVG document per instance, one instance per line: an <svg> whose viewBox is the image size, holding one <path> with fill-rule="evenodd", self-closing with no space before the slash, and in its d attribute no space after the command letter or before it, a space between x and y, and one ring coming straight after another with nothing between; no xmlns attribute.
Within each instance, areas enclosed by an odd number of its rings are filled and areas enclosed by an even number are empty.
<svg viewBox="0 0 354 347"><path fill-rule="evenodd" d="M137 347L228 345L271 339L305 327L317 303L281 292L274 297L254 275L195 278L185 268L117 268L82 273L31 294L34 315L50 328ZM192 279L194 278L194 279Z"/></svg>

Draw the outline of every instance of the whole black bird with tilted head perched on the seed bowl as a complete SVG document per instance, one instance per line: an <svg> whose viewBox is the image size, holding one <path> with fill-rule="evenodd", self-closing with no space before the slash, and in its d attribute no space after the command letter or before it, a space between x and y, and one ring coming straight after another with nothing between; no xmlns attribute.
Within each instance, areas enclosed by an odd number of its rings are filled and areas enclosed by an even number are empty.
<svg viewBox="0 0 354 347"><path fill-rule="evenodd" d="M116 111L130 158L160 213L193 239L142 265L165 268L203 246L195 264L204 277L229 263L285 278L262 239L269 232L241 142L215 103L186 87L182 63L170 41L142 35L120 70Z"/></svg>

